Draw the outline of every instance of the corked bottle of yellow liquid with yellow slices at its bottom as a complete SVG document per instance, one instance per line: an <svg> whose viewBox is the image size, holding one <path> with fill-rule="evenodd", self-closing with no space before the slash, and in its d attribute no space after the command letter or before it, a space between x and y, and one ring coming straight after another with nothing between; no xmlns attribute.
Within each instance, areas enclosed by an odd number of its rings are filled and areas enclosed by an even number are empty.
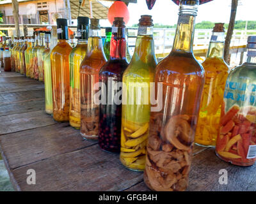
<svg viewBox="0 0 256 204"><path fill-rule="evenodd" d="M149 15L142 15L134 55L123 76L120 160L131 170L145 169L150 82L154 82L156 64L153 20Z"/></svg>

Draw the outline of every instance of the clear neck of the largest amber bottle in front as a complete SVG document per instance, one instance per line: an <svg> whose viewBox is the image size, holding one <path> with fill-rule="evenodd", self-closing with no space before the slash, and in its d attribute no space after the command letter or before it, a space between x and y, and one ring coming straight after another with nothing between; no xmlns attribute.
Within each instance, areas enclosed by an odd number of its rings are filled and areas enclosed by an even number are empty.
<svg viewBox="0 0 256 204"><path fill-rule="evenodd" d="M180 10L173 51L193 52L196 10Z"/></svg>

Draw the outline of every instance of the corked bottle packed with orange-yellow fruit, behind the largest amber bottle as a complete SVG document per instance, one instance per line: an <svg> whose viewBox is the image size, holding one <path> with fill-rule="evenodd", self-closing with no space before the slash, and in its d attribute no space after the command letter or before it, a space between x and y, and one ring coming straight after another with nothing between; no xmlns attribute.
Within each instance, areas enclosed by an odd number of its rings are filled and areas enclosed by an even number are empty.
<svg viewBox="0 0 256 204"><path fill-rule="evenodd" d="M195 133L195 143L215 146L220 129L221 104L228 77L228 66L223 59L224 24L215 24L207 52L202 63L205 69L205 84Z"/></svg>

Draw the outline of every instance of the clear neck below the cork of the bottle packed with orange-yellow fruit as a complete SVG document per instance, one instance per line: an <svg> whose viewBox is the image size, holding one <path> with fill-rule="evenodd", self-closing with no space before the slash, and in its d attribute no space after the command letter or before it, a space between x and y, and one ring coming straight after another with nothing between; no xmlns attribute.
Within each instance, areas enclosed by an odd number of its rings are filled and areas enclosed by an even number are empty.
<svg viewBox="0 0 256 204"><path fill-rule="evenodd" d="M206 57L213 58L223 58L225 47L225 33L212 33L211 41L209 44L208 52Z"/></svg>

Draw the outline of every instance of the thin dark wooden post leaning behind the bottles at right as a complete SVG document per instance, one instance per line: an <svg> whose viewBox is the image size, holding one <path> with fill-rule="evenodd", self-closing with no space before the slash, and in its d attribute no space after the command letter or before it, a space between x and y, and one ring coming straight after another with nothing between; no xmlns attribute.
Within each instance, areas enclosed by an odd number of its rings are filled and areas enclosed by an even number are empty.
<svg viewBox="0 0 256 204"><path fill-rule="evenodd" d="M225 40L224 59L228 64L230 63L230 60L228 60L228 55L229 55L229 49L230 49L230 41L234 31L234 26L235 26L237 4L238 4L238 0L232 0L230 21L228 24L228 31L227 31L227 36Z"/></svg>

